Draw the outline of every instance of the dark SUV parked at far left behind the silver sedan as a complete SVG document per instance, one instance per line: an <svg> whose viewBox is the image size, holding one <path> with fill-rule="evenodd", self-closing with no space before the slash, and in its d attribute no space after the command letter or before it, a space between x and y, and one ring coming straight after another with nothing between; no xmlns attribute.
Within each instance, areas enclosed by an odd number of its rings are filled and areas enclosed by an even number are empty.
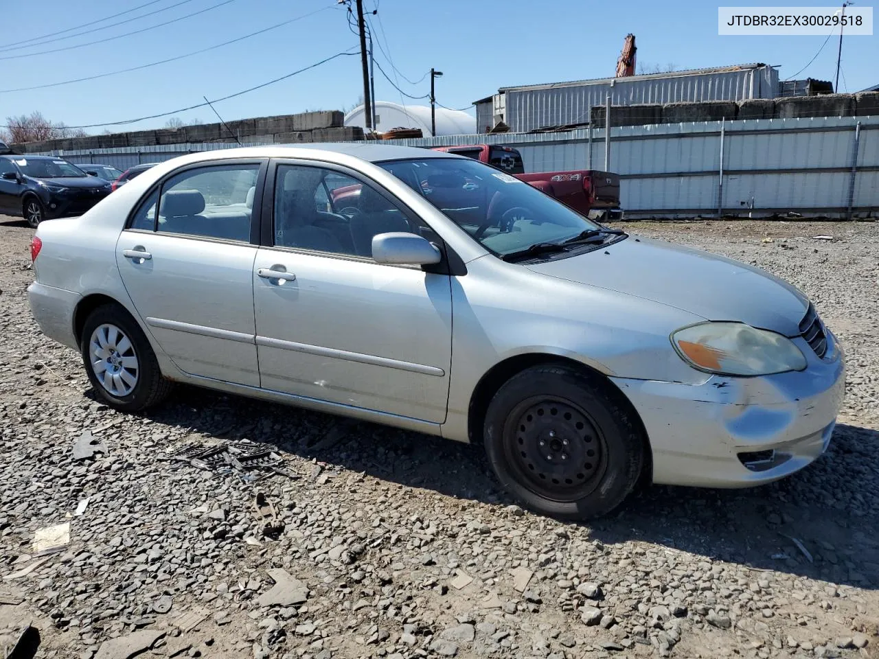
<svg viewBox="0 0 879 659"><path fill-rule="evenodd" d="M0 213L43 220L81 215L110 194L110 184L53 156L0 156Z"/></svg>

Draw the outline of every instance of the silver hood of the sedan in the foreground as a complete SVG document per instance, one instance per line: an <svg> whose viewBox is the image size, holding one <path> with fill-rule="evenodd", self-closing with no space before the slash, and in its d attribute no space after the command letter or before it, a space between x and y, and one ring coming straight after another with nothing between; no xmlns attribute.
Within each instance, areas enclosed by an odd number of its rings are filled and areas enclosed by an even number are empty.
<svg viewBox="0 0 879 659"><path fill-rule="evenodd" d="M795 286L730 258L628 237L576 257L530 264L534 272L599 286L701 315L745 322L788 337L800 333L809 300Z"/></svg>

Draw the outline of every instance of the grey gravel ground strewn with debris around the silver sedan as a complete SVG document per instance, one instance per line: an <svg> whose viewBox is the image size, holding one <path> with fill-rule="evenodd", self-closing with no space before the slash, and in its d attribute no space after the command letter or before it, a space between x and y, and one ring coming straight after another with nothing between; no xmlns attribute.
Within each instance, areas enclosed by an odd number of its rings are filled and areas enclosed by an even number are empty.
<svg viewBox="0 0 879 659"><path fill-rule="evenodd" d="M33 232L0 218L0 648L33 620L38 656L83 659L879 656L879 223L627 226L811 296L849 364L824 458L759 489L643 489L570 525L512 505L467 445L186 387L121 415L40 335ZM75 460L84 431L103 453ZM242 439L299 477L163 460ZM33 556L64 523L69 546Z"/></svg>

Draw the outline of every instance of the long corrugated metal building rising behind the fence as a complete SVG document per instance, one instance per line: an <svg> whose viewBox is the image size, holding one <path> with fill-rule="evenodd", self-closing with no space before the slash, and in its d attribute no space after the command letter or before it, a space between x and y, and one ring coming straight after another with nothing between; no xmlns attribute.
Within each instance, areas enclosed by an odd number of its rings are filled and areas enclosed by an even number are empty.
<svg viewBox="0 0 879 659"><path fill-rule="evenodd" d="M778 91L778 70L760 63L502 87L498 94L476 101L476 127L484 131L499 119L512 131L527 133L536 128L579 124L589 120L593 105L605 105L608 94L613 105L635 105L775 98ZM501 106L504 110L498 117ZM489 117L491 122L487 124Z"/></svg>

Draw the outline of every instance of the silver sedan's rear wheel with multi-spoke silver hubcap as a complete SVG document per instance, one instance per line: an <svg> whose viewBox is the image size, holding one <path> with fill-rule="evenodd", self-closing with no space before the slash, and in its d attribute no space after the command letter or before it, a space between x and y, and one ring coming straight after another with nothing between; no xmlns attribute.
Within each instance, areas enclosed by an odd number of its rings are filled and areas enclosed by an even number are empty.
<svg viewBox="0 0 879 659"><path fill-rule="evenodd" d="M140 412L171 393L156 353L140 325L118 304L105 304L86 318L80 349L91 386L110 407Z"/></svg>

